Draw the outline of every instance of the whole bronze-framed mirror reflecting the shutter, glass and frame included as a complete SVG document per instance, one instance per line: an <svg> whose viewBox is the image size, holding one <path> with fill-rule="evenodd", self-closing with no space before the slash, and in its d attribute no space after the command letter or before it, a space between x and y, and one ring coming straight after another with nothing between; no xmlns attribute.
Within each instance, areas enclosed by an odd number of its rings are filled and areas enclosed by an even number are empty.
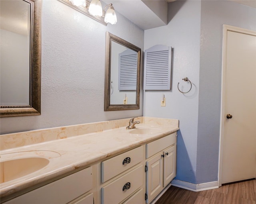
<svg viewBox="0 0 256 204"><path fill-rule="evenodd" d="M106 32L105 111L140 109L140 53Z"/></svg>

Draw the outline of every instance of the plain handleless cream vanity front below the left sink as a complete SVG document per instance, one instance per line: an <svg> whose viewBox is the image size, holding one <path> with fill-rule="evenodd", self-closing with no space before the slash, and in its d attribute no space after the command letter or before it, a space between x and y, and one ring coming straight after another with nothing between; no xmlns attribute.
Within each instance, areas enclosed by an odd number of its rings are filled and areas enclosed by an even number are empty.
<svg viewBox="0 0 256 204"><path fill-rule="evenodd" d="M4 204L93 204L92 181L92 167L88 167Z"/></svg>

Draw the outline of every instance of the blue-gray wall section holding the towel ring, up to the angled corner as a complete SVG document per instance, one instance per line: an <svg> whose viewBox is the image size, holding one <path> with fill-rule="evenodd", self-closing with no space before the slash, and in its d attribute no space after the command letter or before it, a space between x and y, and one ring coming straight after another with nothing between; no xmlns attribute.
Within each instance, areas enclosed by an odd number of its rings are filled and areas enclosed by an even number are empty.
<svg viewBox="0 0 256 204"><path fill-rule="evenodd" d="M198 83L200 60L200 1L175 1L168 4L168 25L145 31L144 47L168 45L173 47L172 89L146 91L144 116L180 120L177 137L176 179L195 183L198 126ZM188 77L193 86L188 94L178 91L190 86L182 78ZM166 107L161 107L165 94Z"/></svg>

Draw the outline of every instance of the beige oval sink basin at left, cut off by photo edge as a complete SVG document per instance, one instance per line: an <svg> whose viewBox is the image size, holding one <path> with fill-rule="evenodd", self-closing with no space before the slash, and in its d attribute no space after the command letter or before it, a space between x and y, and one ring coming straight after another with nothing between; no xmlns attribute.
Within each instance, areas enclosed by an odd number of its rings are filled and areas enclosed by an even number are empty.
<svg viewBox="0 0 256 204"><path fill-rule="evenodd" d="M12 159L0 162L0 183L18 179L48 165L50 161L42 157Z"/></svg>

